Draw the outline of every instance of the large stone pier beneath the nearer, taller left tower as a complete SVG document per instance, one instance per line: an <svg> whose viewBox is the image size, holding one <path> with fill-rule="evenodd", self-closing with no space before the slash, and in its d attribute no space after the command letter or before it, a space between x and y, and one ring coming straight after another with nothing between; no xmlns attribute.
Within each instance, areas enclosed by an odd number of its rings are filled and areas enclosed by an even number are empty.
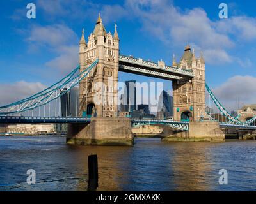
<svg viewBox="0 0 256 204"><path fill-rule="evenodd" d="M133 145L131 119L93 117L90 124L68 124L67 143L76 145Z"/></svg>

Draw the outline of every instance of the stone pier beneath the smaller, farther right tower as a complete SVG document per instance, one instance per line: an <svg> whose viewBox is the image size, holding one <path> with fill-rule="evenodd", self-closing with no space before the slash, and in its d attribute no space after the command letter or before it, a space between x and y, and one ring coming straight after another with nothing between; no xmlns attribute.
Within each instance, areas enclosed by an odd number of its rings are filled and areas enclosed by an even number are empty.
<svg viewBox="0 0 256 204"><path fill-rule="evenodd" d="M165 132L164 132L165 131ZM163 131L162 141L223 142L225 134L218 122L189 122L189 131Z"/></svg>

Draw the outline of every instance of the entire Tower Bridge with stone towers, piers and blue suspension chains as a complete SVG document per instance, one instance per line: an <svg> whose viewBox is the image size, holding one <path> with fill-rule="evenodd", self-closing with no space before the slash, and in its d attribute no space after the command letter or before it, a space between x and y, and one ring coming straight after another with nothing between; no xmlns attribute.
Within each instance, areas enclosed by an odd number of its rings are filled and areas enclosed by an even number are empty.
<svg viewBox="0 0 256 204"><path fill-rule="evenodd" d="M164 140L222 141L223 129L256 129L256 117L233 117L205 84L203 54L189 45L179 62L151 62L119 52L117 26L107 33L99 15L93 32L79 41L79 66L59 82L29 98L0 107L0 123L67 123L67 143L131 145L131 126L164 128ZM174 120L134 120L118 116L120 71L172 81ZM75 89L76 97L70 92ZM206 91L205 91L206 90ZM208 100L206 100L208 96ZM61 103L65 102L62 110ZM71 113L70 109L74 109ZM73 114L73 115L72 115Z"/></svg>

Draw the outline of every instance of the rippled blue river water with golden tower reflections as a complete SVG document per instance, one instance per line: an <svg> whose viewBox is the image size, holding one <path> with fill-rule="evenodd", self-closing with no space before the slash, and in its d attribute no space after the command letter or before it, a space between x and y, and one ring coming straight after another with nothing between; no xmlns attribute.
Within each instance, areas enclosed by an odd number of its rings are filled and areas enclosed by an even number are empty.
<svg viewBox="0 0 256 204"><path fill-rule="evenodd" d="M66 145L61 137L0 137L0 191L86 191L88 155L99 158L98 191L255 191L256 142L161 142L133 147ZM220 169L228 185L219 185ZM36 185L26 171L36 171Z"/></svg>

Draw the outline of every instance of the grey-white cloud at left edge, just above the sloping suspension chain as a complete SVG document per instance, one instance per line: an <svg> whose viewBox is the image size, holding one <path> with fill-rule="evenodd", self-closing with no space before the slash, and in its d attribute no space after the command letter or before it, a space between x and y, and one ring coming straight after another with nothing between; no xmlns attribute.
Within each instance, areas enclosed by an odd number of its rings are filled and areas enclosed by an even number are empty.
<svg viewBox="0 0 256 204"><path fill-rule="evenodd" d="M46 88L40 82L19 81L14 84L0 84L0 105L8 105L20 99L27 98Z"/></svg>

